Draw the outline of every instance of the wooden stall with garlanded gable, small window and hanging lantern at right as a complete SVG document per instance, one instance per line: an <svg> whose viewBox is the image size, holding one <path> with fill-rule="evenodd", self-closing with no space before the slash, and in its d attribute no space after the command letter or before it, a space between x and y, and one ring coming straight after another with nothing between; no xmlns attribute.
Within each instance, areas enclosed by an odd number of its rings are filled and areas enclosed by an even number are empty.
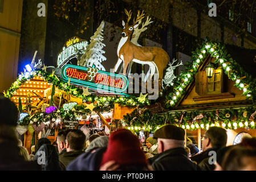
<svg viewBox="0 0 256 182"><path fill-rule="evenodd" d="M256 50L204 42L168 96L169 119L201 149L210 126L227 129L227 145L256 137Z"/></svg>

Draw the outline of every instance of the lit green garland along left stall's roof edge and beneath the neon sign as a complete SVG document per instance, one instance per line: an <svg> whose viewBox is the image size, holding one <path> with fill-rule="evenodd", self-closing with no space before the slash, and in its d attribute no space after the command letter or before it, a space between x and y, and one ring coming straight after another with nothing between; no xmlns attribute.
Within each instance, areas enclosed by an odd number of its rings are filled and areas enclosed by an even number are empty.
<svg viewBox="0 0 256 182"><path fill-rule="evenodd" d="M115 104L120 104L122 106L127 107L143 107L145 105L149 105L149 100L145 98L143 101L139 101L139 97L129 96L129 97L106 97L106 96L95 96L93 94L89 96L83 95L83 89L80 89L74 85L68 85L67 82L59 80L56 76L51 75L50 73L44 72L42 69L37 69L36 71L30 72L29 74L26 72L25 74L21 73L17 80L11 84L11 87L6 91L5 97L11 98L13 94L16 93L16 90L22 84L25 84L27 80L30 80L33 77L40 76L43 77L44 81L47 81L55 86L57 86L60 90L64 90L67 93L72 94L75 97L79 97L83 99L83 102L87 104L94 103L94 111L108 111L113 109ZM90 114L91 110L85 109L84 105L76 105L74 109L64 110L60 108L59 110L54 111L51 114L47 113L35 113L34 115L23 118L22 121L19 121L19 125L29 125L29 123L37 123L38 125L41 122L50 121L52 118L62 118L62 119L70 119L75 120L81 115Z"/></svg>

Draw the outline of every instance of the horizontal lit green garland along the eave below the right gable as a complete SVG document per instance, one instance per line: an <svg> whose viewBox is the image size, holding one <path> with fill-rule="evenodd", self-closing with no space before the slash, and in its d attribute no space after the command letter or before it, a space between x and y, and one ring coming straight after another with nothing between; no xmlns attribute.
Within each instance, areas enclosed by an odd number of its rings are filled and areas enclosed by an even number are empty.
<svg viewBox="0 0 256 182"><path fill-rule="evenodd" d="M130 130L155 131L166 123L180 126L187 130L208 129L211 126L220 126L225 129L237 129L246 127L247 129L255 129L255 119L250 119L256 107L241 107L239 109L229 108L215 111L195 110L184 113L180 122L182 111L175 113L165 113L164 115L150 114L150 110L145 110L143 114L139 114L134 110L131 114L124 116L127 128ZM204 116L201 119L194 119L198 115ZM135 129L136 127L136 129Z"/></svg>

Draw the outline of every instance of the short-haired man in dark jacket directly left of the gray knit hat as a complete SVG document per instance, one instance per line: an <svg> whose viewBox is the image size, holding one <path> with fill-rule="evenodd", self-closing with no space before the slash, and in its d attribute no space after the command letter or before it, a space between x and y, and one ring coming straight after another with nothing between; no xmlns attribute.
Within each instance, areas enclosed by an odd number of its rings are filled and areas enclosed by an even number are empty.
<svg viewBox="0 0 256 182"><path fill-rule="evenodd" d="M81 130L71 130L67 134L66 150L59 155L60 168L66 170L68 164L79 155L84 154L83 148L86 142L86 135Z"/></svg>

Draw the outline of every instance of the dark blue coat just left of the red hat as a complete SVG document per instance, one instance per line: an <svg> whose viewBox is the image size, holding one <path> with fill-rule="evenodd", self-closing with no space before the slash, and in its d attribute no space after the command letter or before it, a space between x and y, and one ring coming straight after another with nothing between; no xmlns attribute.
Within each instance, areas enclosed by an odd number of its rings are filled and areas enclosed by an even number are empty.
<svg viewBox="0 0 256 182"><path fill-rule="evenodd" d="M106 149L97 148L95 152L86 152L80 155L67 166L67 171L98 171Z"/></svg>

